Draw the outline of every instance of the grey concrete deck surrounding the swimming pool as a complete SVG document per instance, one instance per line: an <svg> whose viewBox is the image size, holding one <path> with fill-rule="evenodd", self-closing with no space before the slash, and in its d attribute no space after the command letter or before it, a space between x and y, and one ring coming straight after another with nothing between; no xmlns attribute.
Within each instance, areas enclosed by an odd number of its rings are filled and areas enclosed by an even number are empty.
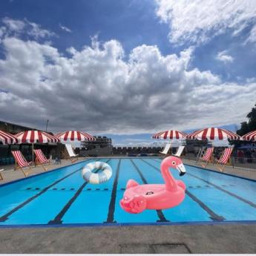
<svg viewBox="0 0 256 256"><path fill-rule="evenodd" d="M50 165L49 171L65 165L70 161ZM214 165L208 168L215 171ZM42 172L38 166L31 175ZM256 171L228 167L224 172L256 180ZM23 177L7 169L0 184ZM255 237L255 223L0 228L0 253L256 253Z"/></svg>

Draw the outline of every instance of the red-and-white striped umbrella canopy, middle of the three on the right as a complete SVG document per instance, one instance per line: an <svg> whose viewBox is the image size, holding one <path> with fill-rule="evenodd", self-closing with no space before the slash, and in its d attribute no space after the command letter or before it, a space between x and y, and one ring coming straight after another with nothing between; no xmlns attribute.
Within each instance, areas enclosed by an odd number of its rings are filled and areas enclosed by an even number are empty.
<svg viewBox="0 0 256 256"><path fill-rule="evenodd" d="M205 128L188 134L191 140L240 140L240 136L222 128Z"/></svg>

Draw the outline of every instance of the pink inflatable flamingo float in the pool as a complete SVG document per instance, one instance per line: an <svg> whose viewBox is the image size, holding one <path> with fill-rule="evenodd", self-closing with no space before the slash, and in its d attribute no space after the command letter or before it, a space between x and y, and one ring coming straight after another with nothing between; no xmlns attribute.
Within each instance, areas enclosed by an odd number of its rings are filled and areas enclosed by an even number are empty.
<svg viewBox="0 0 256 256"><path fill-rule="evenodd" d="M140 213L145 209L168 209L179 205L185 197L186 185L172 177L169 168L186 174L183 162L178 157L166 157L161 163L161 173L165 184L140 185L135 180L128 180L120 206L130 213Z"/></svg>

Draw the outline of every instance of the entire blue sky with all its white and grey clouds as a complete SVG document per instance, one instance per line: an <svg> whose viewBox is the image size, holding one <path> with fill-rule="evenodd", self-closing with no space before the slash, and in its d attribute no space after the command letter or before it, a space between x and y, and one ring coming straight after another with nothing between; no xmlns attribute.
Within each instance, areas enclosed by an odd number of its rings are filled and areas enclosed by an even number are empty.
<svg viewBox="0 0 256 256"><path fill-rule="evenodd" d="M256 102L255 0L1 0L0 119L115 143L232 130Z"/></svg>

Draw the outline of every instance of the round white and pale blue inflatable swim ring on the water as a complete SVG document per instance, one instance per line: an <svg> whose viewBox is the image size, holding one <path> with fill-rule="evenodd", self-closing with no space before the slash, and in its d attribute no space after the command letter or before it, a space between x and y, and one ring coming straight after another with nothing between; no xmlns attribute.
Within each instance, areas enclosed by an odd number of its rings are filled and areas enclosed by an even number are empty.
<svg viewBox="0 0 256 256"><path fill-rule="evenodd" d="M99 174L93 173L93 170L101 169ZM108 181L112 176L112 168L107 163L104 162L93 162L88 163L82 168L82 177L88 183L100 184Z"/></svg>

